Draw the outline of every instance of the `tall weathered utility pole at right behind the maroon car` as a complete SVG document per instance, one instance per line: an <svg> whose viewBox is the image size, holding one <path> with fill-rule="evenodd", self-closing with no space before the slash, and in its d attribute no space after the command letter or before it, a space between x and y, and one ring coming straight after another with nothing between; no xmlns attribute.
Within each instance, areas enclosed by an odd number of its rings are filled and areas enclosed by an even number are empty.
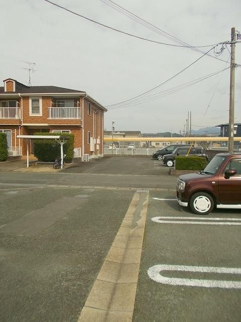
<svg viewBox="0 0 241 322"><path fill-rule="evenodd" d="M235 28L231 29L231 61L230 61L230 95L229 95L229 125L228 125L228 152L233 153L233 125L234 125L234 70L235 70Z"/></svg>

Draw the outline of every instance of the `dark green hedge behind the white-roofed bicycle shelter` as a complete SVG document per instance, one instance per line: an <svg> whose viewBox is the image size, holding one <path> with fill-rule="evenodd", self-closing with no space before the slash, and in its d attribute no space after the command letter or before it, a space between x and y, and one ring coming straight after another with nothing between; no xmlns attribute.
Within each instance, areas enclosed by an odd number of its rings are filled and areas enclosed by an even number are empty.
<svg viewBox="0 0 241 322"><path fill-rule="evenodd" d="M61 135L61 133L34 133L34 135ZM63 145L63 153L66 154L65 162L70 163L74 156L74 135L69 133L63 133L62 135L68 136ZM56 140L33 140L34 141L34 156L42 162L54 162L57 156L60 156L60 144Z"/></svg>

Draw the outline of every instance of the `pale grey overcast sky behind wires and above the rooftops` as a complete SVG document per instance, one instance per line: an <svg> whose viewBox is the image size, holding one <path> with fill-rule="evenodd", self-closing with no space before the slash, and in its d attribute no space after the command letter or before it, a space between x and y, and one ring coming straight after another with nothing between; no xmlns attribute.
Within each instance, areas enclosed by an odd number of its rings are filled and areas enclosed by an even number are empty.
<svg viewBox="0 0 241 322"><path fill-rule="evenodd" d="M231 27L241 32L240 0L113 1L192 46L228 41ZM160 30L153 31L123 11L114 10L109 0L52 2L126 33L178 44ZM31 74L33 86L86 91L104 106L157 87L203 55L191 48L166 46L118 33L44 0L0 0L0 4L2 80L12 77L27 85L28 71L22 68L28 65L21 60L35 62L36 71ZM179 133L184 129L188 111L192 114L193 129L228 123L229 69L181 91L164 92L228 67L225 61L230 45L227 47L217 56L224 61L205 55L155 91L140 96L138 101L107 107L106 130L111 129L114 121L116 130ZM200 50L206 52L211 48ZM216 51L219 49L220 46ZM213 50L210 54L214 55ZM241 43L235 46L235 62L241 64ZM237 67L234 122L241 122L240 81L241 67Z"/></svg>

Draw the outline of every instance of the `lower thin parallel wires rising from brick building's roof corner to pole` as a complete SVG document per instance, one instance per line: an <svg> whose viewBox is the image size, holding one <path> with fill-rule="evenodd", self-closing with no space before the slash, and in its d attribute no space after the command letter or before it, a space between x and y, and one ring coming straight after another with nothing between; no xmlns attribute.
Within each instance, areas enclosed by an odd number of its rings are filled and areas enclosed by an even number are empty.
<svg viewBox="0 0 241 322"><path fill-rule="evenodd" d="M214 72L214 73L211 73L211 74L208 74L208 75L205 75L205 76L202 76L202 77L199 77L197 79L194 79L193 81L190 81L190 82L187 82L187 83L184 83L184 84L181 84L181 85L178 85L176 87L173 87L171 89L168 89L168 90L165 90L165 91L162 91L162 92L159 92L159 93L156 93L158 95L156 96L145 96L143 99L140 100L137 99L137 100L134 100L130 103L126 103L126 104L123 104L123 105L119 105L119 106L115 106L115 107L110 107L108 110L114 110L114 109L117 109L117 108L124 108L124 107L130 107L130 106L136 106L136 105L140 105L140 104L143 104L143 103L146 103L146 101L148 102L151 102L151 101L154 101L154 100L157 100L159 98L162 98L162 97L165 97L165 96L168 96L168 95L171 95L171 94L174 94L174 93L177 93L183 89L186 89L192 85L195 85L201 81L204 81L205 79L209 78L209 77L212 77L220 72L223 72L224 70L226 69L229 69L230 67L226 67L224 69L221 69L217 72Z"/></svg>

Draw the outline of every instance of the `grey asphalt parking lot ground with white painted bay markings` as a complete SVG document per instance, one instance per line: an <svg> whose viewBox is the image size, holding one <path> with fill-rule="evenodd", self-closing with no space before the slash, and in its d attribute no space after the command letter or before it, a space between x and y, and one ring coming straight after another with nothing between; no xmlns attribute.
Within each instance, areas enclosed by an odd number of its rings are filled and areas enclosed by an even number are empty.
<svg viewBox="0 0 241 322"><path fill-rule="evenodd" d="M0 179L1 320L77 321L107 260L133 267L117 286L136 285L134 311L125 306L128 294L114 293L109 320L240 321L240 211L202 217L181 208L177 178L147 157L107 157L53 173L22 170ZM123 223L144 232L124 264L110 252ZM97 320L107 320L99 298Z"/></svg>

